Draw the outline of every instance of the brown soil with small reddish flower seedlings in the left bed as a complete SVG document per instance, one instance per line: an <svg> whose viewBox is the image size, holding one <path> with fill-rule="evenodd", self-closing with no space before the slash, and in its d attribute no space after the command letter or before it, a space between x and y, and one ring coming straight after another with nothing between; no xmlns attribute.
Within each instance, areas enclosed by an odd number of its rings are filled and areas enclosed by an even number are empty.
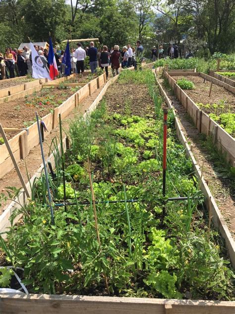
<svg viewBox="0 0 235 314"><path fill-rule="evenodd" d="M43 88L19 99L0 105L0 123L7 128L26 128L35 122L35 111L44 117L74 93L73 88ZM16 133L7 133L11 138Z"/></svg>

